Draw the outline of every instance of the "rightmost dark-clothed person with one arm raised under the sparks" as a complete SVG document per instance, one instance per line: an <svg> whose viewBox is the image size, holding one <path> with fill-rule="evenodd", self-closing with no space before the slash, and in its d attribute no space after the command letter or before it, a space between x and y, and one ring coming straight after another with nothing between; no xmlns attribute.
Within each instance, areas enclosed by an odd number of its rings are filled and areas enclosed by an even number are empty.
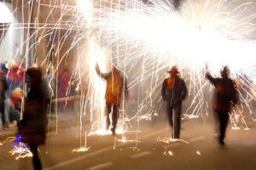
<svg viewBox="0 0 256 170"><path fill-rule="evenodd" d="M230 69L224 66L220 71L221 77L214 78L209 72L207 79L215 87L212 110L216 112L219 123L218 143L224 145L225 131L230 118L231 106L234 107L238 101L238 92L235 82L230 78Z"/></svg>

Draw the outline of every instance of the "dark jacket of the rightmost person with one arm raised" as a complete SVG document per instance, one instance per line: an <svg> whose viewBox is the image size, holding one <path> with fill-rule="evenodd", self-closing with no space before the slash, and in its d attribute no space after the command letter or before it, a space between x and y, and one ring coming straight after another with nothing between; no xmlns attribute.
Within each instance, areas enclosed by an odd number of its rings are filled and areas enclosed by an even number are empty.
<svg viewBox="0 0 256 170"><path fill-rule="evenodd" d="M230 78L213 78L210 74L206 77L215 87L212 109L218 112L229 112L231 104L236 105L238 101L234 82Z"/></svg>

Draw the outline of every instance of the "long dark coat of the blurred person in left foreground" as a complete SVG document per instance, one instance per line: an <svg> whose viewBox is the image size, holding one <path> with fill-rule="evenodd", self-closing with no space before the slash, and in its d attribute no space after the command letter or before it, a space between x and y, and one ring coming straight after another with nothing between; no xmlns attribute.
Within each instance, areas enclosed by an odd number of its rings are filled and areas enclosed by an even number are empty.
<svg viewBox="0 0 256 170"><path fill-rule="evenodd" d="M23 143L44 144L49 98L49 89L44 86L44 79L29 88L24 103L23 119L19 123Z"/></svg>

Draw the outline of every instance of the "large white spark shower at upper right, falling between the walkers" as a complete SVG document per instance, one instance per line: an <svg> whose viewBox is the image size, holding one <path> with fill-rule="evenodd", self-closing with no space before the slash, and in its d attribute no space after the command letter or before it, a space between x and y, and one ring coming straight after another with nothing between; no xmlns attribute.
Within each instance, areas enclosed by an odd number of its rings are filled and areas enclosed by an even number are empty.
<svg viewBox="0 0 256 170"><path fill-rule="evenodd" d="M229 65L231 77L242 86L241 95L246 95L241 96L241 103L250 110L248 101L256 99L256 42L252 36L256 15L245 11L252 3L188 0L179 12L160 0L151 4L136 0L109 4L110 8L95 5L94 34L104 47L111 48L111 60L133 74L130 87L151 83L144 87L148 105L158 98L155 94L159 94L164 71L177 65L194 98L183 118L208 114L205 72L219 76L222 67ZM142 74L132 72L140 63Z"/></svg>

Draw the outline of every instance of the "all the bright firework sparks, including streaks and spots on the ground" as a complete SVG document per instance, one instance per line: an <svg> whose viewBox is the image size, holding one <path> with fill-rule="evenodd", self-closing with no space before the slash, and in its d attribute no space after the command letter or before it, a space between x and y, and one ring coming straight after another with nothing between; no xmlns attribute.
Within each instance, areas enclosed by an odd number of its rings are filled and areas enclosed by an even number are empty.
<svg viewBox="0 0 256 170"><path fill-rule="evenodd" d="M58 73L61 61L65 60L71 49L85 39L86 43L79 44L78 63L73 71L73 76L77 75L79 79L76 91L80 92L82 96L79 103L80 108L82 108L79 111L80 136L82 136L82 119L88 112L90 113L91 122L89 135L110 133L110 131L105 130L105 83L96 75L96 63L100 65L102 71L109 71L111 65L118 65L120 70L129 76L131 80L129 87L133 88L141 85L143 90L140 93L148 96L145 99L138 100L140 109L131 119L127 118L125 111L121 113L122 118L117 129L117 133L121 134L130 132L128 125L132 120L137 122L151 121L152 113L142 114L143 109L147 108L147 105L152 106L153 100L160 101L158 99L159 95L157 95L159 94L158 89L161 80L166 75L165 70L170 65L177 65L180 68L182 76L189 82L189 94L193 96L191 105L183 119L198 118L202 111L207 110L208 103L205 101L206 97L203 94L208 86L202 77L204 77L205 71L211 71L214 76L219 76L218 71L223 65L229 65L231 76L244 84L245 87L241 88L245 91L246 96L241 98L244 107L249 108L250 105L246 105L248 101L256 99L255 89L254 91L245 90L256 87L256 63L254 59L256 42L251 37L253 31L255 31L253 20L256 15L244 14L245 9L251 3L241 3L232 7L230 1L188 0L177 13L170 3L160 0L155 0L150 5L137 0L124 0L118 1L118 3L107 0L104 1L106 5L101 5L102 1L99 1L101 3L84 0L78 0L77 2L77 6L40 4L52 8L61 8L63 12L61 19L58 20L57 24L36 23L35 26L33 25L32 28L36 30L33 36L36 35L38 41L32 42L31 47L25 43L23 45L27 46L27 56L29 49L37 46L44 37L50 35L50 37L58 39L59 44L51 47L52 50L49 54L46 54L47 57L41 64L44 65L48 62L47 59L51 54L60 52L60 49L64 46L65 37L71 31L78 31L74 36L71 47L67 49L63 57L57 57L57 65L52 71L54 75ZM82 8L82 10L79 8ZM61 22L65 14L73 11L83 11L82 16L76 12L70 20ZM83 21L81 21L81 18ZM15 26L18 29L22 27L21 25L27 27L26 23ZM42 28L52 30L65 28L68 31L65 37L57 38L53 31L46 35L40 34ZM80 35L81 31L84 32L82 36ZM28 34L26 41L31 41L33 36L29 37ZM21 48L18 48L17 50L21 51ZM85 61L80 62L81 59ZM27 68L27 57L21 60L26 62ZM88 89L84 91L81 90L81 84L85 71L81 71L83 70L81 65L86 65L86 76L88 76L86 79ZM47 67L54 68L52 64L47 65ZM247 77L247 80L244 77ZM72 83L70 82L70 84ZM89 111L86 110L88 105L90 105ZM207 106L205 107L205 105ZM231 114L232 127L240 128L240 126L243 126L245 130L249 129L245 119L246 111L245 108L242 108ZM252 111L250 110L250 112ZM252 120L255 122L255 119L252 118ZM139 129L136 132L140 132ZM185 140L180 140L188 143ZM117 141L140 142L137 139L131 140L125 135ZM166 144L177 142L176 139L171 138L159 138L158 141ZM21 144L17 148L20 151L16 152L14 150L12 153L22 153L22 156L30 156L29 150L24 149L25 146ZM85 145L73 151L79 152L89 149L90 147L86 146L85 139ZM167 151L166 154L173 156L172 151Z"/></svg>

